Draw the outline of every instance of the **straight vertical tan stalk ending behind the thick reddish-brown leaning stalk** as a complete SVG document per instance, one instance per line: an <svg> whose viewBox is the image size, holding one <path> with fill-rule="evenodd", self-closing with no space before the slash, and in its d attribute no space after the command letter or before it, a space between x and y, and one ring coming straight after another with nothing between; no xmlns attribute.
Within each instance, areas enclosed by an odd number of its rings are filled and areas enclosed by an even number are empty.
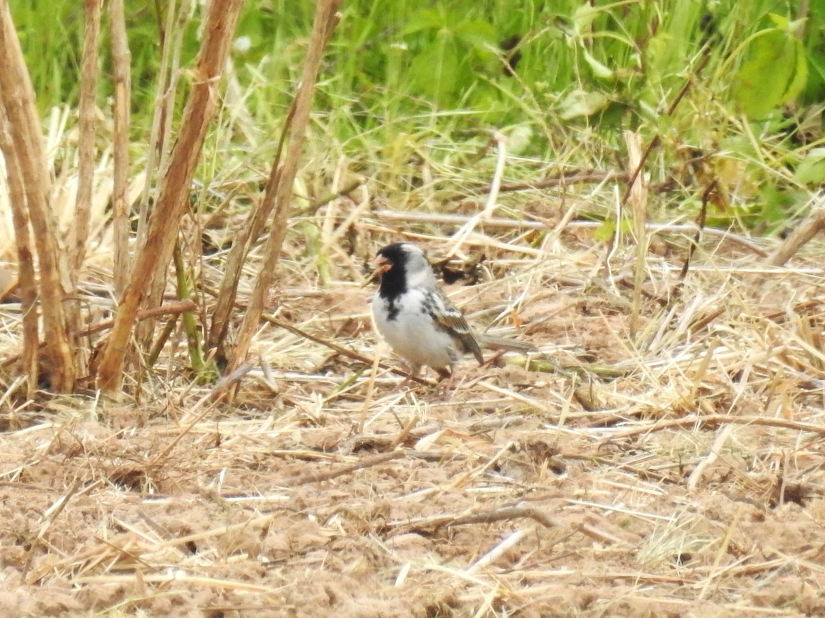
<svg viewBox="0 0 825 618"><path fill-rule="evenodd" d="M123 0L109 2L109 30L111 32L111 65L115 82L115 131L112 145L114 178L112 188L112 228L115 237L115 297L120 298L128 283L131 265L129 255L129 101L131 76L129 40Z"/></svg>

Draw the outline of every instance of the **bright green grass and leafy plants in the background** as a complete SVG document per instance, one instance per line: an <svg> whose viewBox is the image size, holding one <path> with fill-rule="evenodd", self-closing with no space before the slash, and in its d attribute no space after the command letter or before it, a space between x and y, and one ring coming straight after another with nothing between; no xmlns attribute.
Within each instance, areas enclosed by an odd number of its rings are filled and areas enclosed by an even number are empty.
<svg viewBox="0 0 825 618"><path fill-rule="evenodd" d="M439 189L461 190L463 180L489 176L492 162L483 149L496 129L520 136L518 154L526 159L513 162L508 176L525 179L554 165L556 171L615 168L625 158L621 132L633 129L646 142L662 138L648 162L654 183L679 176L698 153L706 174L736 171L727 178L732 209L715 213L715 222L775 229L795 214L789 205L825 180L816 151L821 136L804 143L798 134L804 114L821 116L825 94L825 8L811 4L802 30L796 5L775 0L624 0L596 7L565 0L525 2L518 11L509 2L349 2L315 98L312 134L319 143L309 147L326 151L327 165L349 157L393 195L418 182L411 168L422 161L443 172L441 185L452 185ZM11 7L42 113L77 105L78 3L12 0ZM133 135L145 143L165 16L148 3L126 10ZM246 46L233 53L233 63L248 129L258 139L238 140L224 114L213 156L205 156L204 180L228 173L219 161L232 162L228 170L237 173L237 157L266 168L299 79L312 12L309 3L247 2L237 35ZM186 24L181 66L196 54L199 20L195 12ZM515 77L498 47L513 36L520 37L521 54ZM777 45L784 57L770 56ZM107 46L104 40L104 71ZM697 75L705 50L709 59ZM687 95L666 115L688 81ZM106 109L106 78L99 93ZM681 201L691 203L691 191L701 187L689 188ZM660 207L662 216L672 208L667 196Z"/></svg>

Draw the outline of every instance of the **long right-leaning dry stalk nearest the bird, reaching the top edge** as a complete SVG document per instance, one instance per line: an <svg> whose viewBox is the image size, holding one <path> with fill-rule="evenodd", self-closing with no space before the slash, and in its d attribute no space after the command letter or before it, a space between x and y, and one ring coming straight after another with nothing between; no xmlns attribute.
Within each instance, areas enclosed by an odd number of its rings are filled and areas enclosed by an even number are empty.
<svg viewBox="0 0 825 618"><path fill-rule="evenodd" d="M276 187L273 187L272 183L267 185L266 195L264 196L264 200L274 199L275 215L269 238L266 240L263 264L258 271L255 288L252 291L249 310L243 317L243 324L238 332L238 341L229 361L230 372L243 363L247 356L249 345L252 343L252 335L257 330L258 322L261 320L264 297L271 287L273 279L275 279L275 269L278 265L281 245L284 243L287 222L290 216L292 183L295 180L295 174L298 172L298 161L304 144L304 133L309 121L309 106L312 103L312 95L323 50L332 35L332 30L337 26L337 9L340 3L341 0L318 0L315 7L312 38L309 40L301 84L298 94L295 96L295 116L288 129L289 147L287 147L283 170L280 175L275 173L271 175L271 177L279 176L278 181L275 183ZM273 189L275 190L274 198L271 197L271 190Z"/></svg>

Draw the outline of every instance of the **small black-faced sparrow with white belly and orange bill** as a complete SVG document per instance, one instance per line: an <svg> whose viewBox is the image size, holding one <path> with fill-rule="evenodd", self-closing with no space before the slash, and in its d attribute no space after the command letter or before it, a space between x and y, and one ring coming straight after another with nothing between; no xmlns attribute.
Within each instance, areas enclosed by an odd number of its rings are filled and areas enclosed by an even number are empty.
<svg viewBox="0 0 825 618"><path fill-rule="evenodd" d="M440 380L448 379L449 391L455 378L453 369L464 354L472 353L483 365L482 347L535 350L530 344L474 333L439 288L420 247L410 242L384 246L375 256L375 265L380 283L373 296L373 317L389 347L408 363L409 375L402 386L427 366Z"/></svg>

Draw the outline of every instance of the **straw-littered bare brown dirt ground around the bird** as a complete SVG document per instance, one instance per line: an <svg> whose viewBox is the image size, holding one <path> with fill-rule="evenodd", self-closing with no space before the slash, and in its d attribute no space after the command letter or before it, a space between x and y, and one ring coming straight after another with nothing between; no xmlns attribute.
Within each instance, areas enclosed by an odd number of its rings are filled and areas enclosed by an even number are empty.
<svg viewBox="0 0 825 618"><path fill-rule="evenodd" d="M233 405L3 401L0 615L825 614L822 246L705 236L680 287L692 234L653 236L634 324L633 246L587 234L448 288L542 351L450 396L266 325ZM358 267L285 265L272 311L398 367Z"/></svg>

